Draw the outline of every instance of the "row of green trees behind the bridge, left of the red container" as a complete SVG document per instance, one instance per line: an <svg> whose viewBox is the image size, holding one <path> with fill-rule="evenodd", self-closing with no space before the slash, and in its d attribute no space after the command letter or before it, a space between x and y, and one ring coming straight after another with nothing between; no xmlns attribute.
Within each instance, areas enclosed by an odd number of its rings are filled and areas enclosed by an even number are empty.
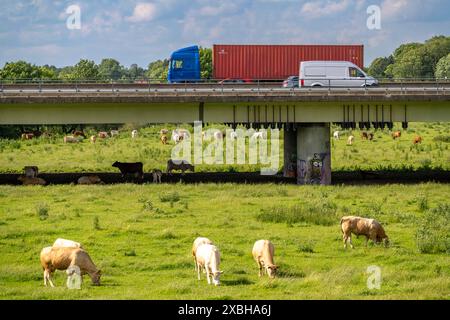
<svg viewBox="0 0 450 320"><path fill-rule="evenodd" d="M212 49L200 48L201 76L204 79L212 76ZM0 69L0 79L8 80L167 80L169 60L156 60L150 62L147 69L137 64L125 67L119 61L107 58L99 64L92 60L81 59L74 66L62 68L53 65L37 66L29 62L19 60L7 62Z"/></svg>

